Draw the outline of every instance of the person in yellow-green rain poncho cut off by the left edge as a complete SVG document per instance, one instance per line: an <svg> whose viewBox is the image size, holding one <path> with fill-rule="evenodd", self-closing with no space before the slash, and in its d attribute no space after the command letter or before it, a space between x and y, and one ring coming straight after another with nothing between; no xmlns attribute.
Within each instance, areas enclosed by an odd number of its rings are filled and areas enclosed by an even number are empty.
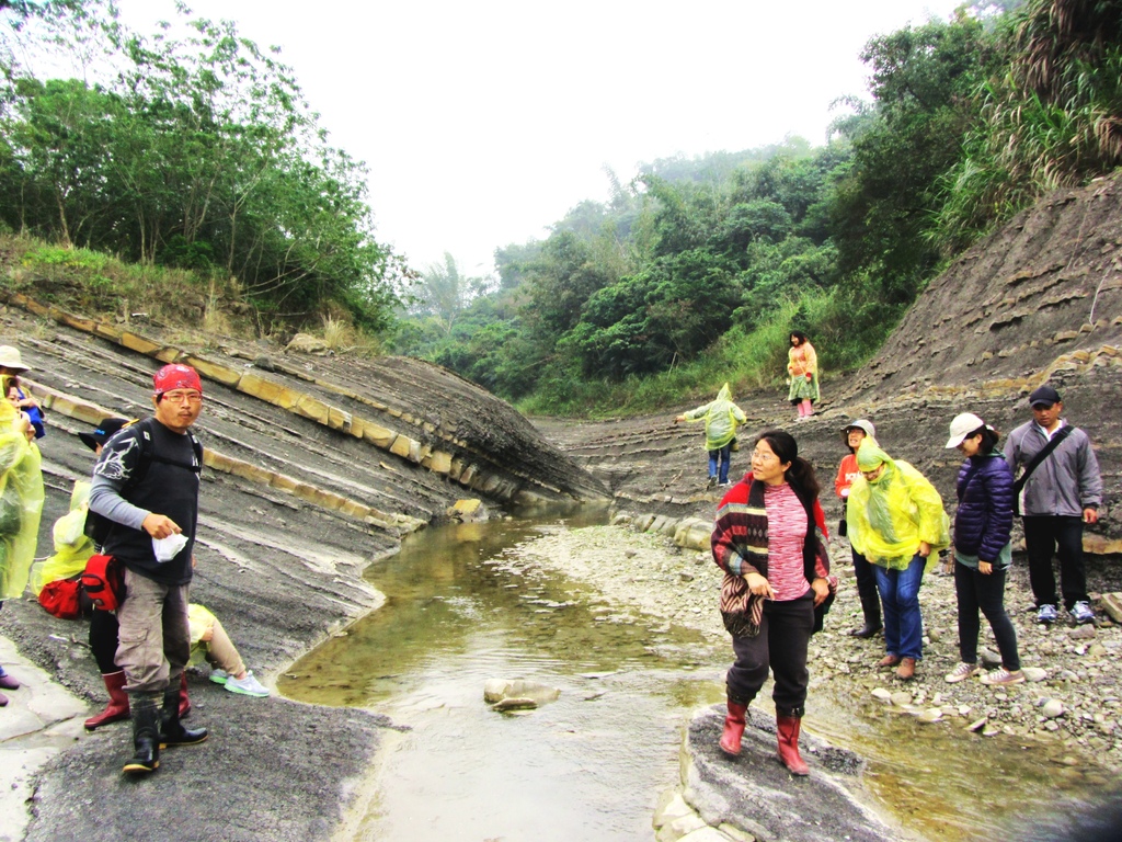
<svg viewBox="0 0 1122 842"><path fill-rule="evenodd" d="M8 394L10 379L10 375L0 376L0 394ZM0 401L0 605L24 595L39 537L43 472L39 448L29 433L33 429L26 412ZM0 687L19 687L2 667ZM0 705L7 703L0 694Z"/></svg>

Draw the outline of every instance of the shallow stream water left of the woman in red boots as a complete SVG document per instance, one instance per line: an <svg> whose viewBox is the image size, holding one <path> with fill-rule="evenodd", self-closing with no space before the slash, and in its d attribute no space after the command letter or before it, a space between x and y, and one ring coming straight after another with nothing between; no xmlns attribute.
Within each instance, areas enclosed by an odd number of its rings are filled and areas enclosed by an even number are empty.
<svg viewBox="0 0 1122 842"><path fill-rule="evenodd" d="M723 647L629 622L503 557L557 528L507 521L411 538L369 571L385 606L282 679L292 698L370 707L412 729L385 752L361 839L653 838L657 797L678 782L681 727L721 698ZM491 678L561 696L499 714L482 698Z"/></svg>

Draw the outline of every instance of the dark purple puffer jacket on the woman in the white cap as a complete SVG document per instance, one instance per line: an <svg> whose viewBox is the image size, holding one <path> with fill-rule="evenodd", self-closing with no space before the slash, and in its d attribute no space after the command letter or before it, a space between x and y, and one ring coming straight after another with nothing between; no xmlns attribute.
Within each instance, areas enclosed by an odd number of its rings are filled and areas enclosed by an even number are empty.
<svg viewBox="0 0 1122 842"><path fill-rule="evenodd" d="M958 469L956 488L955 549L983 561L996 561L1013 528L1013 472L1009 463L996 450L972 456Z"/></svg>

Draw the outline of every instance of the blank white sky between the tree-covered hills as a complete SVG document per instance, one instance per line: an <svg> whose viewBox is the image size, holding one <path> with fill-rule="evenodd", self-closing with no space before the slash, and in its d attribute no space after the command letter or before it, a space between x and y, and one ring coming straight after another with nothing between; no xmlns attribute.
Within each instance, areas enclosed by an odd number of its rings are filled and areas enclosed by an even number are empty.
<svg viewBox="0 0 1122 842"><path fill-rule="evenodd" d="M378 239L467 274L542 239L603 167L825 139L829 104L866 95L875 34L963 0L188 0L282 47L329 141L365 161ZM145 34L172 0L119 0Z"/></svg>

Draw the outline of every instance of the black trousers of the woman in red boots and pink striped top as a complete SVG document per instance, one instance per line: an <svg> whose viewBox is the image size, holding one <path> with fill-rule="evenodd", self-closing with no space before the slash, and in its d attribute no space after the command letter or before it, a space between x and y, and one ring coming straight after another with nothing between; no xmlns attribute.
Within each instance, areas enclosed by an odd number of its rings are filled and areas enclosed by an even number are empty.
<svg viewBox="0 0 1122 842"><path fill-rule="evenodd" d="M728 698L746 705L767 680L775 678L772 699L783 716L802 716L807 704L807 646L815 628L813 592L788 602L764 603L760 634L733 638L736 662L728 670Z"/></svg>

